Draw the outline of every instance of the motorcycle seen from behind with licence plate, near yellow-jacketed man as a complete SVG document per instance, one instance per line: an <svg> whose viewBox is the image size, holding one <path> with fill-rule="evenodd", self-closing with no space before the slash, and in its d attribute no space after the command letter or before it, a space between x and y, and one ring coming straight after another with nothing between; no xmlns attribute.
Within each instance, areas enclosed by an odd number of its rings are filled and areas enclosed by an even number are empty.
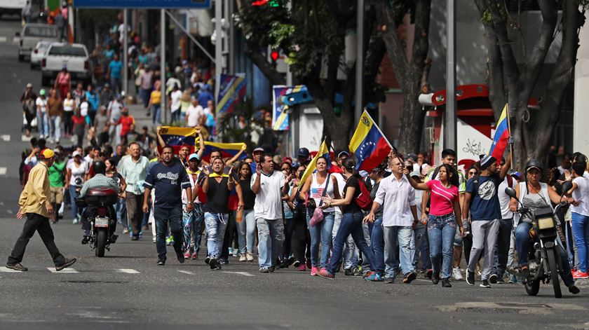
<svg viewBox="0 0 589 330"><path fill-rule="evenodd" d="M92 188L86 191L84 197L76 199L78 207L94 208L91 214L88 214L90 221L90 236L88 244L91 249L95 250L98 257L104 256L104 250L110 251L109 246L116 242L117 235L111 233L111 228L116 226L116 214L111 214L112 205L116 204L116 191L110 188Z"/></svg>

